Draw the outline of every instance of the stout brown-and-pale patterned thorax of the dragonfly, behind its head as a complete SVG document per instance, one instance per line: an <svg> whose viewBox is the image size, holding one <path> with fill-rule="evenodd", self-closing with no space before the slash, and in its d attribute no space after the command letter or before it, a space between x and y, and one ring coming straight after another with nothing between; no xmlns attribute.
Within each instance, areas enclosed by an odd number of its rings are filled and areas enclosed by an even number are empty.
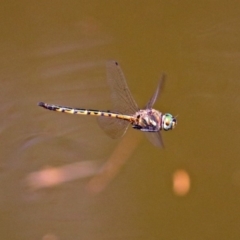
<svg viewBox="0 0 240 240"><path fill-rule="evenodd" d="M162 113L155 109L139 110L134 114L133 128L145 132L158 132L161 130Z"/></svg>

